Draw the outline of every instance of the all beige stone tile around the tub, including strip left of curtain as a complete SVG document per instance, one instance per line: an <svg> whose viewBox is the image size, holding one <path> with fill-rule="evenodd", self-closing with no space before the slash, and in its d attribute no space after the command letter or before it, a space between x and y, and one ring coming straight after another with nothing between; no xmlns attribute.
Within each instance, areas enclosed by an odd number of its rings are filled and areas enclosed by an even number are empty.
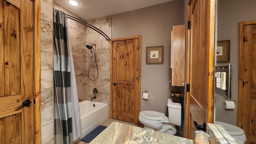
<svg viewBox="0 0 256 144"><path fill-rule="evenodd" d="M59 9L66 14L73 15L64 8L53 3L52 0L41 2L41 126L42 144L54 144L54 94L53 94L53 11ZM88 23L96 26L111 38L111 16L90 20ZM89 100L94 96L93 88L98 89L94 101L110 103L110 48L109 42L97 32L84 25L68 19L70 43L74 59L78 98L80 101ZM96 50L98 64L98 79L88 79L88 68L91 53L86 44L92 45ZM97 76L95 61L90 68L90 78Z"/></svg>

